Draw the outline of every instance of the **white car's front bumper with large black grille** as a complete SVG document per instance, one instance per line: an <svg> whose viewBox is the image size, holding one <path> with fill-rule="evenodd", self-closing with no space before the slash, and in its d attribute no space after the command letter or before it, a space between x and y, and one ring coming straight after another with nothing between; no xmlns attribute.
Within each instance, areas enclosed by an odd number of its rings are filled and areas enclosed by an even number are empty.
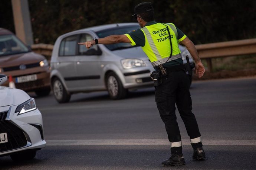
<svg viewBox="0 0 256 170"><path fill-rule="evenodd" d="M0 143L0 156L46 146L40 111L36 109L17 115L16 108L15 105L0 107L0 134L7 137L7 142Z"/></svg>

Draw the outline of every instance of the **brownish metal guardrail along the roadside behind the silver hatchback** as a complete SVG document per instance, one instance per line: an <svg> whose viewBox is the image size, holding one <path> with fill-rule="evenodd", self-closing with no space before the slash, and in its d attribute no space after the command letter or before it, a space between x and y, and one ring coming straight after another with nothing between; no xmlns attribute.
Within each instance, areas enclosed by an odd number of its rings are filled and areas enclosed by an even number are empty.
<svg viewBox="0 0 256 170"><path fill-rule="evenodd" d="M212 72L211 58L256 54L256 38L195 46L200 58L206 59L207 68L210 72ZM42 54L50 60L53 50L52 44L33 44L31 48L34 52Z"/></svg>

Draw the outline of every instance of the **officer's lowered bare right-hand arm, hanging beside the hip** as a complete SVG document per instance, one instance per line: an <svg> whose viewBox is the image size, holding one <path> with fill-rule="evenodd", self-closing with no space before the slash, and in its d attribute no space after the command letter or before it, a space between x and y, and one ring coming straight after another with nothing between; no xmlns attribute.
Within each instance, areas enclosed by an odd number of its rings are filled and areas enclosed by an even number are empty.
<svg viewBox="0 0 256 170"><path fill-rule="evenodd" d="M190 54L192 55L196 64L196 75L198 75L198 77L201 78L204 75L205 69L203 63L201 62L201 59L198 56L194 43L188 37L186 37L180 43L185 45L187 47L188 52L190 52Z"/></svg>

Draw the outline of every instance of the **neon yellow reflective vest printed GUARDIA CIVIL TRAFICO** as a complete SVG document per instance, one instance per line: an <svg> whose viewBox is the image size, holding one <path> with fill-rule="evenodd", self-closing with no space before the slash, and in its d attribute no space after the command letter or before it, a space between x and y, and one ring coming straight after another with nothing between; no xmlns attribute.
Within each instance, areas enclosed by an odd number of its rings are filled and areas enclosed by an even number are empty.
<svg viewBox="0 0 256 170"><path fill-rule="evenodd" d="M171 55L171 44L167 26L170 31L173 54ZM141 28L145 36L145 45L142 50L147 54L153 66L164 64L165 62L181 58L178 47L177 29L172 23L156 23ZM170 58L169 58L170 57Z"/></svg>

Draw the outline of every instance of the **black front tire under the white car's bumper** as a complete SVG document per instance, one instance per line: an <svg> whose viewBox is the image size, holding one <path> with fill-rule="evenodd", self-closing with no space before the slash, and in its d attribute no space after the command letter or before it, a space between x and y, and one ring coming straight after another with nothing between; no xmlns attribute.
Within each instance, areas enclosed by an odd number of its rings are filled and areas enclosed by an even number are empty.
<svg viewBox="0 0 256 170"><path fill-rule="evenodd" d="M35 158L36 156L36 150L23 150L21 152L10 154L10 157L13 161L24 161L24 160L30 160Z"/></svg>

